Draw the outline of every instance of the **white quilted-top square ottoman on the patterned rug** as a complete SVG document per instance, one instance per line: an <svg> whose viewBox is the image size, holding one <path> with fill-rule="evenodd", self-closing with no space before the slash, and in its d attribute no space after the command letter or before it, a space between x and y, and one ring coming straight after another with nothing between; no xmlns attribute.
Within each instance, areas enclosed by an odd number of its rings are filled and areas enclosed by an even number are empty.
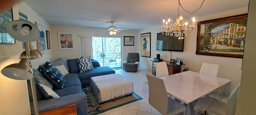
<svg viewBox="0 0 256 115"><path fill-rule="evenodd" d="M133 93L133 82L115 73L91 77L90 85L99 104Z"/></svg>

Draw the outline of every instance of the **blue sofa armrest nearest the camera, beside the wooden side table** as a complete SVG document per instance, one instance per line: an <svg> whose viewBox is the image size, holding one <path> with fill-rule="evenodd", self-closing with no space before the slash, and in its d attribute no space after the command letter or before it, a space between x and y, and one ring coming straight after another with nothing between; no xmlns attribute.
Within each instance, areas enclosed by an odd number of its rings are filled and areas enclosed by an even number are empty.
<svg viewBox="0 0 256 115"><path fill-rule="evenodd" d="M77 93L74 95L38 101L38 111L49 111L73 104L76 104L77 115L88 115L85 93Z"/></svg>

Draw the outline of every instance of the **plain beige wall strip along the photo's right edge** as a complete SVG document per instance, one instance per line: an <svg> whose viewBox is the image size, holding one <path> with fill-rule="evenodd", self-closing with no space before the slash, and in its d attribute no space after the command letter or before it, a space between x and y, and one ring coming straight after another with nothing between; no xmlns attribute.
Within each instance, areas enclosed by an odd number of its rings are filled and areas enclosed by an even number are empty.
<svg viewBox="0 0 256 115"><path fill-rule="evenodd" d="M236 115L253 115L256 113L256 39L254 33L256 31L255 14L256 1L250 0L248 23L246 29L246 41L244 48L244 61Z"/></svg>

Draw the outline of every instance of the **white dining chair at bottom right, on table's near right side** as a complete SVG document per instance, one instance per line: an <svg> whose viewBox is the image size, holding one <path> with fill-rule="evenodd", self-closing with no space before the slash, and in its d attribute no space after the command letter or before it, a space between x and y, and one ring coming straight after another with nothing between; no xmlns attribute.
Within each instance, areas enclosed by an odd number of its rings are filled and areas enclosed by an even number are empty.
<svg viewBox="0 0 256 115"><path fill-rule="evenodd" d="M240 83L230 93L228 102L218 101L212 97L204 97L196 102L196 106L200 109L207 110L208 113L214 113L216 115L235 115L236 105L238 100ZM205 114L207 114L205 112Z"/></svg>

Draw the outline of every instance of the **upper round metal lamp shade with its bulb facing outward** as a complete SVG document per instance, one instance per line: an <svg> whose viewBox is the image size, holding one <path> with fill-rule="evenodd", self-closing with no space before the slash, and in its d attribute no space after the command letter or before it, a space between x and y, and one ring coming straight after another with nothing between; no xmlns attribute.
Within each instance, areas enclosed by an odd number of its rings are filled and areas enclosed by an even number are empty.
<svg viewBox="0 0 256 115"><path fill-rule="evenodd" d="M25 20L14 20L7 24L6 29L12 38L21 42L34 42L40 36L36 25Z"/></svg>

